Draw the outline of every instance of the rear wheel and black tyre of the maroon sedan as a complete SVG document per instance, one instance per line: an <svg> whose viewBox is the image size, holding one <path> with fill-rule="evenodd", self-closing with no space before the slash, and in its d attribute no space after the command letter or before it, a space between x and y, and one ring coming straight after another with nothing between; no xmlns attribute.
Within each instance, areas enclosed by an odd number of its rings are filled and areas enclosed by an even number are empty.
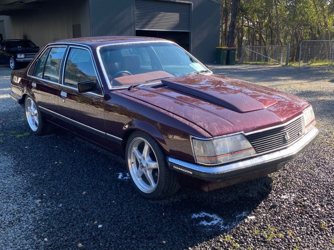
<svg viewBox="0 0 334 250"><path fill-rule="evenodd" d="M25 117L30 130L35 135L46 135L52 132L53 126L45 120L38 105L30 96L24 101Z"/></svg>

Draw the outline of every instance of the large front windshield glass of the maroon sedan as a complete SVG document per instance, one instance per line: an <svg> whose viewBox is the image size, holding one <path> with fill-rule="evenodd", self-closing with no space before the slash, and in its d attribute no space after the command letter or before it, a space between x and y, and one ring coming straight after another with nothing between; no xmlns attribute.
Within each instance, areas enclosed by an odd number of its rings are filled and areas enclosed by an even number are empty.
<svg viewBox="0 0 334 250"><path fill-rule="evenodd" d="M154 82L162 78L210 73L199 61L170 42L103 46L102 68L111 87Z"/></svg>

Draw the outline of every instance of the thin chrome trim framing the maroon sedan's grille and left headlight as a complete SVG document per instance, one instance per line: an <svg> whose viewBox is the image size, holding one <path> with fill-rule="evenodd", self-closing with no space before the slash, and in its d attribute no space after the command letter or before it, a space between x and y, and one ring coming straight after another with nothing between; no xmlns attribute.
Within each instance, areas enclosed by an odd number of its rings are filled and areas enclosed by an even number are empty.
<svg viewBox="0 0 334 250"><path fill-rule="evenodd" d="M241 132L237 132L237 133L233 133L233 134L222 135L222 136L217 136L217 137L212 137L212 138L200 138L200 137L196 137L196 136L192 136L192 135L190 135L190 143L191 143L191 147L192 147L192 152L193 152L193 154L194 154L194 160L195 160L195 162L196 162L197 164L205 165L205 166L216 166L216 165L224 164L224 163L222 163L222 162L220 162L220 163L216 163L216 164L206 164L206 163L200 163L200 162L198 162L197 159L196 159L197 156L196 156L196 154L195 154L194 145L193 145L193 143L192 143L192 139L193 139L193 138L194 138L194 139L198 139L198 140L203 140L203 141L210 141L210 140L213 140L213 139L220 139L220 138L223 138L223 137L226 137L226 136L231 136L231 135L236 135L236 134L242 134L243 136L246 136L246 135L251 135L251 134L255 134L255 133L261 133L261 132L264 132L264 131L267 131L267 130L271 130L271 129L275 129L275 128L280 128L280 127L284 127L284 126L286 126L286 125L289 125L290 123L293 123L294 121L298 120L299 118L301 118L301 117L303 117L303 116L304 116L304 114L301 114L301 115L299 115L299 116L293 118L292 120L290 120L290 121L288 121L288 122L286 122L286 123L284 123L284 124L277 125L277 126L273 126L273 127L270 127L270 128L265 128L265 129L260 129L260 130L252 131L252 132L249 132L249 133L244 133L243 131L241 131ZM302 119L302 122L303 122L303 126L304 126L304 128L305 128L304 119ZM245 158L241 158L241 159L239 159L239 160L247 159L247 158L249 158L249 157L254 157L254 156L259 156L259 155L268 154L268 153L271 153L271 152L273 152L273 151L277 151L277 150L280 150L280 149L283 149L283 148L290 147L291 145L293 145L293 144L297 143L299 140L301 140L301 139L307 134L307 133L305 134L305 129L303 129L303 134L304 134L304 135L301 136L297 141L291 142L291 143L289 143L289 144L286 144L286 145L284 145L284 146L282 146L282 147L279 147L279 148L275 148L275 149L273 149L273 150L269 150L269 151L262 152L262 153L256 153L256 154L254 154L254 155L250 155L250 156L247 156L247 157L245 157ZM246 138L246 139L247 139L247 138ZM252 146L252 147L253 147L253 146ZM233 163L233 161L232 161L232 163Z"/></svg>

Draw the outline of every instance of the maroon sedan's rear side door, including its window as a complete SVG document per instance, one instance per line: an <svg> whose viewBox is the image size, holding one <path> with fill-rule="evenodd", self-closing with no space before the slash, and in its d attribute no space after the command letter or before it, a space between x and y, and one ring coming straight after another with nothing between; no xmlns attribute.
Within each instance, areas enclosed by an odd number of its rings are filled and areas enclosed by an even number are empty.
<svg viewBox="0 0 334 250"><path fill-rule="evenodd" d="M38 106L46 112L58 112L59 75L66 46L47 48L39 57L31 90Z"/></svg>

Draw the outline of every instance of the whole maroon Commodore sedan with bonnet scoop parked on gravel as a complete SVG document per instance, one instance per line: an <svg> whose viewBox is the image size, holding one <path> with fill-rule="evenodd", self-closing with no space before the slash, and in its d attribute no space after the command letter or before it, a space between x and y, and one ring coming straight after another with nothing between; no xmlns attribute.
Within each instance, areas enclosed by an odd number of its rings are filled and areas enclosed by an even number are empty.
<svg viewBox="0 0 334 250"><path fill-rule="evenodd" d="M311 105L213 75L175 43L93 37L47 44L13 71L10 96L35 135L54 125L126 158L148 199L279 170L317 138Z"/></svg>

